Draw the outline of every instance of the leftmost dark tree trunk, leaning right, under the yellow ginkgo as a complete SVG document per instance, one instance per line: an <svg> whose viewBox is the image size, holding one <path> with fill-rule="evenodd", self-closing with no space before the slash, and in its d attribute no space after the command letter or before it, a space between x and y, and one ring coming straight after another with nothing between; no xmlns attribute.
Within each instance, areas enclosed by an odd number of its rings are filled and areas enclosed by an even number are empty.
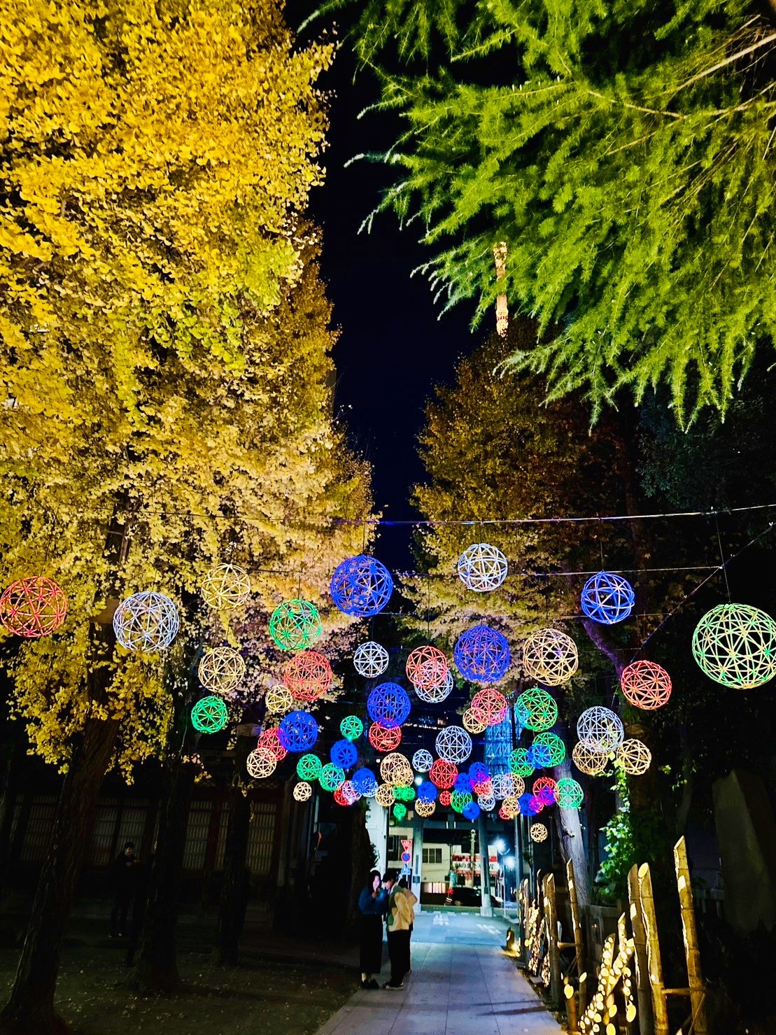
<svg viewBox="0 0 776 1035"><path fill-rule="evenodd" d="M62 939L117 735L117 721L87 719L70 759L13 988L0 1014L3 1035L67 1031L54 1012Z"/></svg>

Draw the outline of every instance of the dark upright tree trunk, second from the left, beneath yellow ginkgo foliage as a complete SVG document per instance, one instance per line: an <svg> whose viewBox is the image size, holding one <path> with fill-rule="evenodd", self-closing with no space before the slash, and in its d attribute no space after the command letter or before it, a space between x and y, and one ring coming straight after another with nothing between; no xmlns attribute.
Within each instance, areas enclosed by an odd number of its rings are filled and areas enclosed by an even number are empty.
<svg viewBox="0 0 776 1035"><path fill-rule="evenodd" d="M167 772L168 794L159 822L136 970L137 986L146 993L172 992L180 985L176 945L178 888L186 848L195 769L176 759Z"/></svg>

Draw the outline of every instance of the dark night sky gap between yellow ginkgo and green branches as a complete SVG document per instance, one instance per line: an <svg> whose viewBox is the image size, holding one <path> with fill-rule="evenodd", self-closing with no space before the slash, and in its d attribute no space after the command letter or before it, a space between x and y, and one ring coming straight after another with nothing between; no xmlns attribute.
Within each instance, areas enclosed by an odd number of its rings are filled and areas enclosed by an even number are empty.
<svg viewBox="0 0 776 1035"><path fill-rule="evenodd" d="M312 6L304 0L287 6L292 29ZM314 24L299 42L332 24L331 19ZM367 71L354 83L355 60L344 38L347 19L337 18L337 30L342 46L321 80L322 88L334 94L323 156L326 183L311 198L311 216L324 231L323 273L341 331L334 350L336 412L352 445L372 465L376 509L401 521L417 516L409 496L423 475L416 437L424 404L435 384L452 380L457 358L485 331L470 331L472 309L465 306L438 319L441 305L435 305L427 280L411 276L430 256L417 240L419 228L401 231L395 216L386 213L370 234L358 232L391 174L376 162L357 161L347 169L346 164L356 154L388 147L398 120L377 113L358 118L377 99L378 86ZM394 569L414 567L410 541L410 529L384 528L376 554Z"/></svg>

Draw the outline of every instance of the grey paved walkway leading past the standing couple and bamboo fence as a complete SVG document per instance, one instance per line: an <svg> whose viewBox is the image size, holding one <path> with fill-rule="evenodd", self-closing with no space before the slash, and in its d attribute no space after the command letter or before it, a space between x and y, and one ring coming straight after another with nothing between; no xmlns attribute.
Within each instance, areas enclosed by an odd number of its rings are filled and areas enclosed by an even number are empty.
<svg viewBox="0 0 776 1035"><path fill-rule="evenodd" d="M561 1035L501 951L505 930L476 914L424 911L415 923L405 987L357 992L318 1035ZM383 980L387 976L386 967Z"/></svg>

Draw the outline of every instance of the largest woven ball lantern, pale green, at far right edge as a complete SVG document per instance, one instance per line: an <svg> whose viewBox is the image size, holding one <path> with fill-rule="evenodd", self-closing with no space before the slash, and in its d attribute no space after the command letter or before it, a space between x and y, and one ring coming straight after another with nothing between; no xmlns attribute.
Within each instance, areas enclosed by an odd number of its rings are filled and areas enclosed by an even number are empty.
<svg viewBox="0 0 776 1035"><path fill-rule="evenodd" d="M720 603L697 623L692 655L715 683L762 686L776 675L776 622L747 603Z"/></svg>

